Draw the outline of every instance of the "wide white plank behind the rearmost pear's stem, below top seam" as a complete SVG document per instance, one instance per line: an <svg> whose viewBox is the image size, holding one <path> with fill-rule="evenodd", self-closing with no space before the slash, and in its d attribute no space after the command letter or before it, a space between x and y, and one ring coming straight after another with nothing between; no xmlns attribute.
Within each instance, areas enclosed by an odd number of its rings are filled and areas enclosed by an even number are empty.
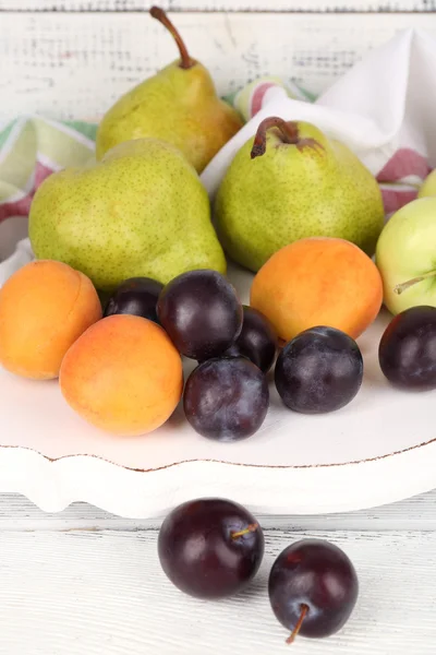
<svg viewBox="0 0 436 655"><path fill-rule="evenodd" d="M318 93L371 48L424 14L183 13L178 25L220 94L275 73ZM0 120L39 112L97 120L124 92L177 53L147 14L0 14ZM274 35L274 38L271 38Z"/></svg>

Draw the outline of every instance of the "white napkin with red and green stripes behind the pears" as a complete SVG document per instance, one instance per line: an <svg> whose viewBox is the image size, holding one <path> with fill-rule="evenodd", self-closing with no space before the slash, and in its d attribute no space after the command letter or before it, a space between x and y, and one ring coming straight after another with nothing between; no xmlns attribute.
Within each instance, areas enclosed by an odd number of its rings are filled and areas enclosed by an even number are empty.
<svg viewBox="0 0 436 655"><path fill-rule="evenodd" d="M380 184L386 214L416 198L436 165L436 40L405 31L370 52L325 94L266 76L226 97L242 130L217 154L202 179L214 194L234 152L266 116L308 120L341 139ZM27 215L51 172L94 158L97 126L25 116L0 124L0 285L33 257Z"/></svg>

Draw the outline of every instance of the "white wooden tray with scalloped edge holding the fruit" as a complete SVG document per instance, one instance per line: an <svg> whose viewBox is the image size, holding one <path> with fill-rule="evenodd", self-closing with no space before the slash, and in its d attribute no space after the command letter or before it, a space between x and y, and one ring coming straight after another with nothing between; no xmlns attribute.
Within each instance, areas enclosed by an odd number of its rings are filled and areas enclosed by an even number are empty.
<svg viewBox="0 0 436 655"><path fill-rule="evenodd" d="M0 264L4 269L7 264ZM242 301L252 275L229 267ZM141 438L116 438L84 422L56 381L0 369L0 492L25 495L46 511L87 501L128 517L162 514L185 499L222 496L262 513L370 508L436 487L435 394L391 389L377 359L389 317L359 340L364 382L353 402L322 416L287 409L270 384L262 429L222 444L196 434L179 406ZM186 373L194 362L186 361Z"/></svg>

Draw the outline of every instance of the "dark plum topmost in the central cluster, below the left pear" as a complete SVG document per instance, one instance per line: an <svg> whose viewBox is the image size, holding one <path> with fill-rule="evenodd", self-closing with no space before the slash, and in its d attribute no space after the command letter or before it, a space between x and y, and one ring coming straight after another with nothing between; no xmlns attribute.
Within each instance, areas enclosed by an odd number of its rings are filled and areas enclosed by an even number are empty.
<svg viewBox="0 0 436 655"><path fill-rule="evenodd" d="M204 361L225 353L242 327L242 305L223 275L208 269L174 277L157 305L161 325L185 357Z"/></svg>

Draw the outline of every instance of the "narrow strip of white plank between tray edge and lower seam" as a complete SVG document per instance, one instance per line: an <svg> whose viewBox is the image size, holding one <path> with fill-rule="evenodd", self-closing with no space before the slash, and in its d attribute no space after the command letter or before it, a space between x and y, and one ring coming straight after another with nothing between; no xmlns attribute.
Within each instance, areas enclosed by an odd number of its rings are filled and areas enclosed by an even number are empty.
<svg viewBox="0 0 436 655"><path fill-rule="evenodd" d="M436 489L401 502L342 514L257 516L268 529L324 531L436 531ZM132 521L108 514L86 503L48 514L22 496L0 495L0 532L138 531L157 529L160 520Z"/></svg>

